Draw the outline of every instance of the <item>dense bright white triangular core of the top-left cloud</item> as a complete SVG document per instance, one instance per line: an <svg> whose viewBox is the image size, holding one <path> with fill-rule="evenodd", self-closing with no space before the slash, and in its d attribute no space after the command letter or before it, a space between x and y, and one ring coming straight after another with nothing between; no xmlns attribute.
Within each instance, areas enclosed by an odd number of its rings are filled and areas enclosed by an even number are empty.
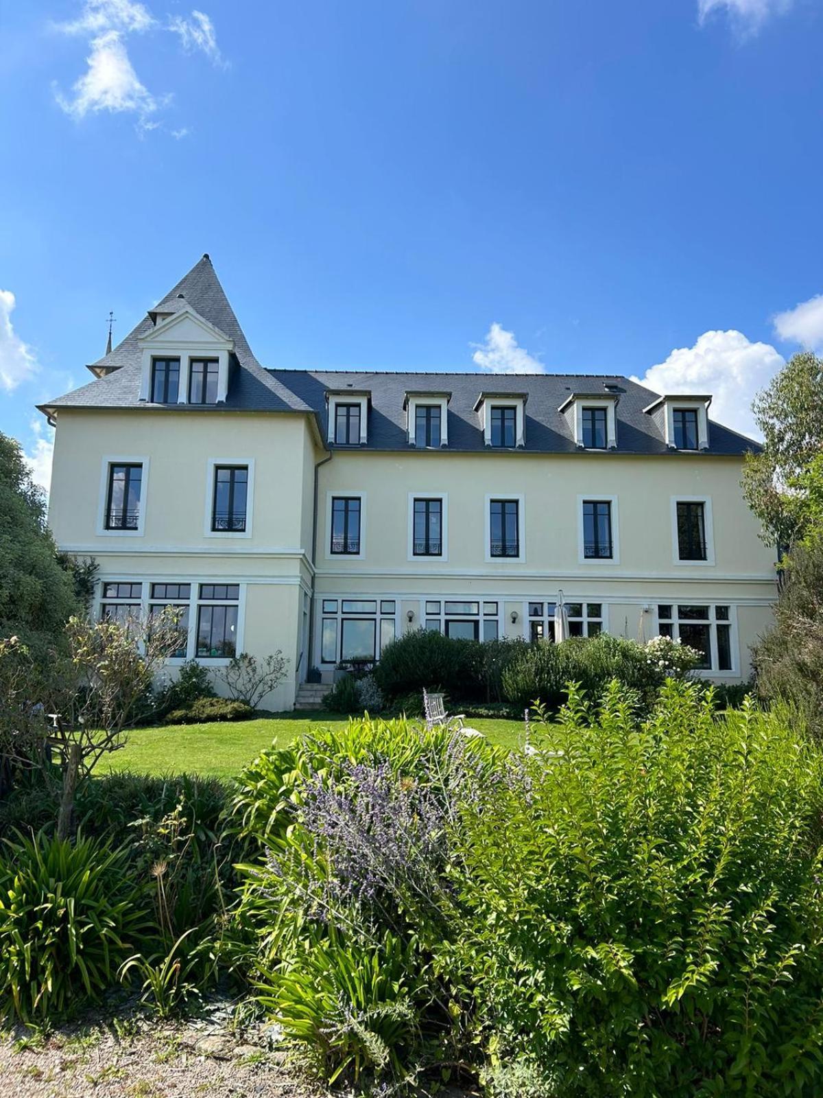
<svg viewBox="0 0 823 1098"><path fill-rule="evenodd" d="M132 67L120 31L92 38L86 60L89 70L75 83L72 97L57 97L67 114L82 119L90 111L136 111L145 117L156 109L157 101Z"/></svg>

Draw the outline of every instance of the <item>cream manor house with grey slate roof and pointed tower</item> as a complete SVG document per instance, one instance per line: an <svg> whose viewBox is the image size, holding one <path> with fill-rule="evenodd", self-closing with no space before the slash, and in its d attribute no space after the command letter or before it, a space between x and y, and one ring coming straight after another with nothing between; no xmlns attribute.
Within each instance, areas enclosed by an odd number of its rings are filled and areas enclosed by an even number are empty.
<svg viewBox="0 0 823 1098"><path fill-rule="evenodd" d="M621 377L268 370L208 256L42 406L49 524L97 612L182 608L179 658L282 649L290 708L409 629L679 637L739 681L775 601L710 396Z"/></svg>

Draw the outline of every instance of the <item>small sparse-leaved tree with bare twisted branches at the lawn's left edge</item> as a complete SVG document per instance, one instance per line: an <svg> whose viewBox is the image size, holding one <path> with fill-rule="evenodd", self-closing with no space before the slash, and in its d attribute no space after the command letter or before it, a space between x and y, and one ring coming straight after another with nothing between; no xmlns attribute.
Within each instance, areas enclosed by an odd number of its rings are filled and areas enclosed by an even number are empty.
<svg viewBox="0 0 823 1098"><path fill-rule="evenodd" d="M7 768L36 768L57 785L61 839L71 831L78 786L124 746L123 730L146 712L158 668L180 645L173 608L125 625L71 617L66 635L68 656L54 653L47 675L16 638L0 642L0 687L9 698L0 755Z"/></svg>

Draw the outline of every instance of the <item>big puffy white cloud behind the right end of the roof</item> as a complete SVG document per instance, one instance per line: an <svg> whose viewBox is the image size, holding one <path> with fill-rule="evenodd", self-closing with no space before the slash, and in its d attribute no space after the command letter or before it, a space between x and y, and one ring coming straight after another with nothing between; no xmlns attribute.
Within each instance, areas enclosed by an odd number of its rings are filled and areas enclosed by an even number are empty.
<svg viewBox="0 0 823 1098"><path fill-rule="evenodd" d="M632 380L662 394L711 393L712 419L751 436L758 434L752 399L782 366L770 344L752 343L742 332L703 332L694 347L673 350Z"/></svg>

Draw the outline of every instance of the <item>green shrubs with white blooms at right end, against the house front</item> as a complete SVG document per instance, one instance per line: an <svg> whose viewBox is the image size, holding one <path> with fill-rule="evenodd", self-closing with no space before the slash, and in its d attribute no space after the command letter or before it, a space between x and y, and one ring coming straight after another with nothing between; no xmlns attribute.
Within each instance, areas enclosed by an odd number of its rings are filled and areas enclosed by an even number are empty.
<svg viewBox="0 0 823 1098"><path fill-rule="evenodd" d="M568 683L600 695L615 679L636 692L649 708L667 677L687 675L697 661L692 649L666 637L639 645L604 632L589 639L573 637L560 645L525 647L504 670L501 681L510 703L525 707L539 702L556 710Z"/></svg>

